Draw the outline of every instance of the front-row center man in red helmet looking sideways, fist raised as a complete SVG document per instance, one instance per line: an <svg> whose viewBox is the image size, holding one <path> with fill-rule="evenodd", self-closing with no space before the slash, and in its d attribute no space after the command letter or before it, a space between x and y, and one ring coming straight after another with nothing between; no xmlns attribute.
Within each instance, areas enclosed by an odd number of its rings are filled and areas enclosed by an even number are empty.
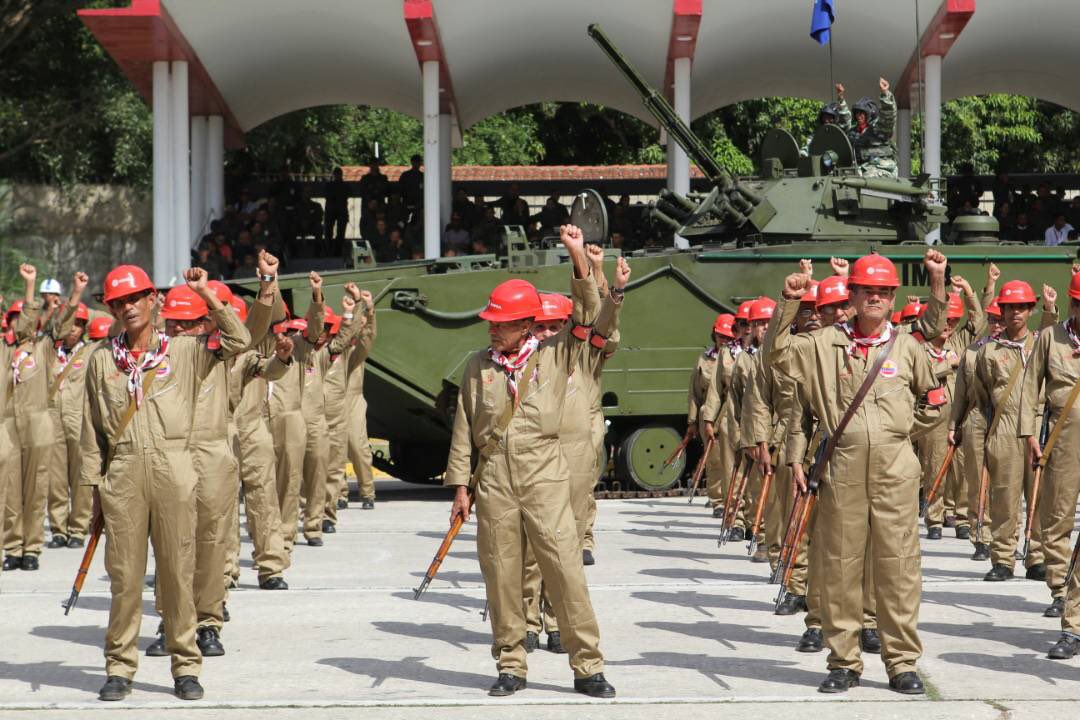
<svg viewBox="0 0 1080 720"><path fill-rule="evenodd" d="M588 325L597 302L584 241L573 226L563 226L559 235L573 263L573 322ZM588 350L588 331L582 336L567 326L540 343L529 332L540 312L536 288L511 280L492 290L481 314L489 321L491 345L469 359L458 393L444 479L457 488L450 524L468 519L469 487L474 485L476 545L499 670L489 694L511 695L525 688L522 567L527 540L549 586L575 690L612 697L581 565L569 468L558 440L567 385L577 356ZM509 423L504 429L503 422Z"/></svg>

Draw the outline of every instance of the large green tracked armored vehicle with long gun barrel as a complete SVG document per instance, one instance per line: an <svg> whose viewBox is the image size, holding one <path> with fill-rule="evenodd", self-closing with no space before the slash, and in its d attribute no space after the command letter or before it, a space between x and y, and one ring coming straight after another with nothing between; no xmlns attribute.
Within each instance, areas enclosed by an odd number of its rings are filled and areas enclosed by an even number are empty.
<svg viewBox="0 0 1080 720"><path fill-rule="evenodd" d="M654 220L693 245L632 254L622 342L604 371L610 489L661 492L686 470L685 457L670 467L663 462L686 427L689 373L711 342L715 315L774 295L801 258L827 269L833 256L853 259L872 250L897 264L904 284L897 297L924 295L924 242L946 221L935 200L943 188L926 177L861 177L848 138L833 125L818 130L806 155L786 132L772 131L762 142L758 174L732 177L600 29L592 26L589 32L712 185L708 192L687 196L665 191L653 202ZM604 203L595 193L579 195L572 221L584 226L586 240L606 241ZM991 218L961 218L942 236L953 244L945 248L950 271L975 284L993 260L1005 277L1036 287L1050 283L1061 291L1078 250L1003 243ZM442 474L462 368L487 344L486 324L476 314L488 291L509 277L524 277L541 291L566 291L567 260L562 250L530 246L524 232L508 228L500 255L324 274L327 301L337 303L348 282L376 300L378 340L367 362L365 395L372 436L390 443L389 457L377 459L380 467L418 483ZM281 281L299 313L307 307L307 284L306 276Z"/></svg>

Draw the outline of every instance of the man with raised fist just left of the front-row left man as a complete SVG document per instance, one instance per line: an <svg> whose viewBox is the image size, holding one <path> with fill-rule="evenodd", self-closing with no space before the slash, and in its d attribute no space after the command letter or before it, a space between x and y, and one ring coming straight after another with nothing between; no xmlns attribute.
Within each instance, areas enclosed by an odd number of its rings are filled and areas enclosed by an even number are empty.
<svg viewBox="0 0 1080 720"><path fill-rule="evenodd" d="M79 437L82 435L82 406L86 394L86 359L96 344L86 342L90 309L79 302L89 279L78 272L71 284L75 311L71 328L56 342L49 383L49 411L58 441L49 448L45 472L49 477L49 547L82 547L90 530L93 493L79 485ZM69 303L70 304L70 303Z"/></svg>

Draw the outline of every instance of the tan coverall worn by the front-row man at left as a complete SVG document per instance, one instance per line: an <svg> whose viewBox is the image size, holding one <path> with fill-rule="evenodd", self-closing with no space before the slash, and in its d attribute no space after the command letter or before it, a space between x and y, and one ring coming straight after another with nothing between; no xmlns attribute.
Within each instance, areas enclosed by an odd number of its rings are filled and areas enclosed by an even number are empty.
<svg viewBox="0 0 1080 720"><path fill-rule="evenodd" d="M222 355L247 347L251 336L230 308L213 311ZM157 349L160 336L151 340ZM105 635L106 674L131 679L138 667L147 536L153 544L157 593L172 653L173 677L198 676L195 643L197 487L189 441L202 381L221 364L206 338L172 338L143 406L117 438L127 405L127 376L109 345L90 359L83 411L82 483L97 486L105 518L105 567L112 603ZM110 453L112 461L108 462ZM214 578L220 587L221 573Z"/></svg>

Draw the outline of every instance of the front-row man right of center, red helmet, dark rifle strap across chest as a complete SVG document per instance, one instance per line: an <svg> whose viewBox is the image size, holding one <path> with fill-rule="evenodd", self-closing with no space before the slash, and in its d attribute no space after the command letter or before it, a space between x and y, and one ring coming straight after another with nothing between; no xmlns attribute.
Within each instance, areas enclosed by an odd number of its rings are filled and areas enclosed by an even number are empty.
<svg viewBox="0 0 1080 720"><path fill-rule="evenodd" d="M924 262L931 301L944 304L945 257L929 249ZM809 335L777 332L775 328L795 320L798 300L809 284L806 274L785 281L783 302L771 328L775 337L771 359L805 390L811 411L823 430L833 434L878 354L896 332L889 316L900 281L888 259L860 258L849 279L853 323ZM944 321L943 315L936 316ZM912 434L918 430L917 410L924 412L924 426L932 426L931 391L936 381L918 340L903 332L895 337L879 375L827 459L828 473L819 490L814 542L820 544L825 579L822 627L829 649L829 674L821 692L846 692L859 684L864 562L870 534L869 561L889 687L905 694L924 692L915 671L922 651L917 630L921 571L916 512L921 470ZM793 464L792 473L805 491L801 463Z"/></svg>

